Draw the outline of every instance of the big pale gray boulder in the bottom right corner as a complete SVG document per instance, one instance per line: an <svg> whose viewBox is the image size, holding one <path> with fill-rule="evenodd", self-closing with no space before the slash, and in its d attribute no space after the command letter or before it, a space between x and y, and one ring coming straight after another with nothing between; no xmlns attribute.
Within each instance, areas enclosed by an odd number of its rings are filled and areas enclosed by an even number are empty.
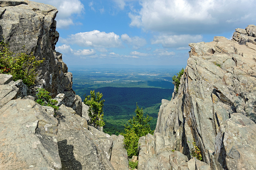
<svg viewBox="0 0 256 170"><path fill-rule="evenodd" d="M233 113L216 137L218 167L253 169L256 166L255 133L256 124L252 120L241 113Z"/></svg>

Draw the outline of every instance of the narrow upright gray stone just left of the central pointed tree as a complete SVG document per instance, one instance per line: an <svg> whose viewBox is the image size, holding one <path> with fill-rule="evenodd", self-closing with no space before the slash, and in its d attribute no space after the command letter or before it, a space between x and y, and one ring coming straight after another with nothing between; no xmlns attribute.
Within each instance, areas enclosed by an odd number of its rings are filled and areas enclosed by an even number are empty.
<svg viewBox="0 0 256 170"><path fill-rule="evenodd" d="M113 135L111 135L112 137ZM128 170L129 169L129 161L128 154L126 149L124 148L124 136L116 135L113 138L113 148L110 162L115 170Z"/></svg>

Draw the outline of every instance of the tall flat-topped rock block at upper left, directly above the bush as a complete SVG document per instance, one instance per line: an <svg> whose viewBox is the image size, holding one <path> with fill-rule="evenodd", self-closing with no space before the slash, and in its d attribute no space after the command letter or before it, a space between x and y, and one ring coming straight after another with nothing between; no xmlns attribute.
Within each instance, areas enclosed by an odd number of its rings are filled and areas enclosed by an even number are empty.
<svg viewBox="0 0 256 170"><path fill-rule="evenodd" d="M59 38L54 20L58 10L51 5L27 0L10 3L1 2L1 40L9 42L14 52L22 51L24 46L28 53L34 53L37 60L45 58L37 81L43 79L44 88L56 96L60 92L57 86L60 79L52 50Z"/></svg>

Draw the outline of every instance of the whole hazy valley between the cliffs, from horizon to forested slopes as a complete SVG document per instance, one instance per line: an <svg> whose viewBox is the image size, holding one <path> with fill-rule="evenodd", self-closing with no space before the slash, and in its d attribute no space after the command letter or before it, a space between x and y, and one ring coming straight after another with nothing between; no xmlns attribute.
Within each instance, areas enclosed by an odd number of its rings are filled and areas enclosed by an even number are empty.
<svg viewBox="0 0 256 170"><path fill-rule="evenodd" d="M73 90L82 100L90 90L103 94L103 131L118 135L124 124L134 115L136 103L144 114L153 117L151 129L156 128L157 114L162 99L170 100L174 85L172 76L179 69L168 68L70 68Z"/></svg>

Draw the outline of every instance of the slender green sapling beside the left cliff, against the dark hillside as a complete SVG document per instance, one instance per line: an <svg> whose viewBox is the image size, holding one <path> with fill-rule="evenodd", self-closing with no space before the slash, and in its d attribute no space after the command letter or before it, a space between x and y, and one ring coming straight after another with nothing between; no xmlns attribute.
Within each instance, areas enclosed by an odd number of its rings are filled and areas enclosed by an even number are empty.
<svg viewBox="0 0 256 170"><path fill-rule="evenodd" d="M103 106L105 100L101 100L102 93L97 92L95 94L94 90L90 92L91 95L85 96L84 104L89 106L88 116L90 117L89 124L95 128L99 128L105 125L103 121Z"/></svg>

